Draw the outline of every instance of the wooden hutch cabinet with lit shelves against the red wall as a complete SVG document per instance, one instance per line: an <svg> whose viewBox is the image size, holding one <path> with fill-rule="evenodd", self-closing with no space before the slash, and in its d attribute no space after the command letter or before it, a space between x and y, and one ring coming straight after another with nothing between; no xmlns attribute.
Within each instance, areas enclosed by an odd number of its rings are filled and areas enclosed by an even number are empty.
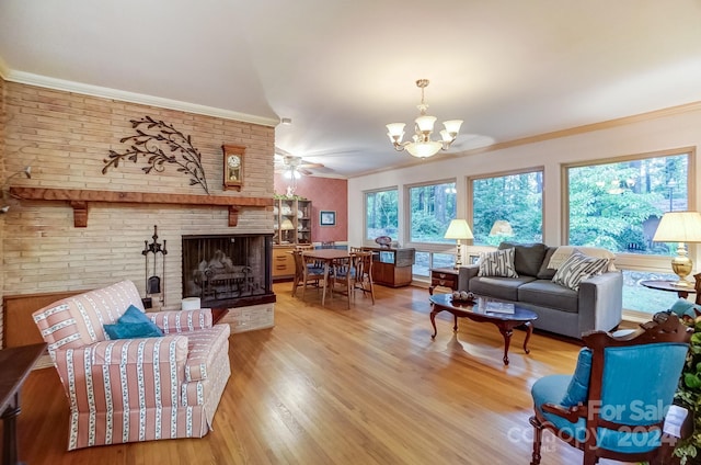
<svg viewBox="0 0 701 465"><path fill-rule="evenodd" d="M295 277L290 251L311 243L311 201L275 199L273 206L273 280Z"/></svg>

